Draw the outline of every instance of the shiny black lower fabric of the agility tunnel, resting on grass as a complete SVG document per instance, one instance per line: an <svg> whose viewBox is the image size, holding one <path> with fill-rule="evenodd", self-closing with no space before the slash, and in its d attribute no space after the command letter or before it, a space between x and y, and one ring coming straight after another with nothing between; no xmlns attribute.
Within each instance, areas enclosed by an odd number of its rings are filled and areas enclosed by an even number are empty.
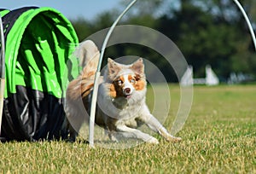
<svg viewBox="0 0 256 174"><path fill-rule="evenodd" d="M59 139L65 132L62 99L47 92L16 86L4 100L3 136L9 140Z"/></svg>

